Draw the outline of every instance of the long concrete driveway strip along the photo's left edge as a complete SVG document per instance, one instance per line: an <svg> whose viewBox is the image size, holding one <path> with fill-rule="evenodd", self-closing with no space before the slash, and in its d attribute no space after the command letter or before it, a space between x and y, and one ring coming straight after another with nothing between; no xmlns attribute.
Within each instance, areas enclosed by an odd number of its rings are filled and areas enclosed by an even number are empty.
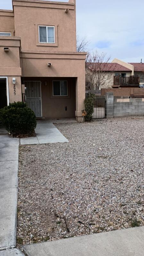
<svg viewBox="0 0 144 256"><path fill-rule="evenodd" d="M0 135L0 250L16 246L19 139Z"/></svg>

